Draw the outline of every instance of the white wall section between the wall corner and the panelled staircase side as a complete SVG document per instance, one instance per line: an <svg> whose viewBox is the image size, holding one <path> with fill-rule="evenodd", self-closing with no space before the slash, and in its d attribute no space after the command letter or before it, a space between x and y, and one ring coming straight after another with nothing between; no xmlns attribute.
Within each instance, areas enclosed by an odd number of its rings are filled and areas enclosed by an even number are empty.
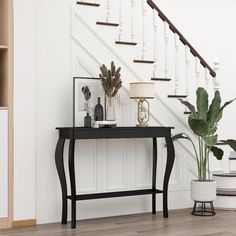
<svg viewBox="0 0 236 236"><path fill-rule="evenodd" d="M60 215L61 192L54 162L57 126L70 126L70 4L37 1L37 220ZM58 220L59 218L57 218Z"/></svg>

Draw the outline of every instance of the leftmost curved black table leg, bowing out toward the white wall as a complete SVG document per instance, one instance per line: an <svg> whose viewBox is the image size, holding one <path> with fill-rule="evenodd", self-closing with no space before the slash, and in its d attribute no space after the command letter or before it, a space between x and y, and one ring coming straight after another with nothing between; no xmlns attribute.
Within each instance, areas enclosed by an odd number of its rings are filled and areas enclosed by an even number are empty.
<svg viewBox="0 0 236 236"><path fill-rule="evenodd" d="M56 146L55 162L62 191L62 224L67 224L67 185L63 159L65 139L59 139Z"/></svg>

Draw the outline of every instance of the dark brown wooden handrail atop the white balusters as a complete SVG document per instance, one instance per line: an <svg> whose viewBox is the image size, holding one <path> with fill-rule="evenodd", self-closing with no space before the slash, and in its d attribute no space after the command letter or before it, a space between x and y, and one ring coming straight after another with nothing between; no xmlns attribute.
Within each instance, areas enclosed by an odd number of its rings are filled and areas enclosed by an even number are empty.
<svg viewBox="0 0 236 236"><path fill-rule="evenodd" d="M180 41L187 45L190 48L190 52L195 56L198 57L200 60L200 63L203 67L207 68L210 71L210 74L212 77L216 77L216 72L209 66L209 64L202 58L202 56L196 51L196 49L189 43L189 41L180 33L180 31L174 26L174 24L168 19L168 17L160 10L160 8L152 1L147 0L148 5L155 9L158 12L159 17L168 23L170 30L173 33L176 33L179 35Z"/></svg>

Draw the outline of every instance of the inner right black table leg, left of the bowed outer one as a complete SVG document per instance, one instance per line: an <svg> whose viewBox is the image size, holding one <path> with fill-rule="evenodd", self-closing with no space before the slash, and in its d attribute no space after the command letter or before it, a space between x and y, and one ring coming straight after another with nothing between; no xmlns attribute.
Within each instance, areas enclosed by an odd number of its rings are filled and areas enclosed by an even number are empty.
<svg viewBox="0 0 236 236"><path fill-rule="evenodd" d="M153 138L153 166L152 166L152 189L156 190L157 176L157 139ZM152 214L156 214L156 193L152 194Z"/></svg>

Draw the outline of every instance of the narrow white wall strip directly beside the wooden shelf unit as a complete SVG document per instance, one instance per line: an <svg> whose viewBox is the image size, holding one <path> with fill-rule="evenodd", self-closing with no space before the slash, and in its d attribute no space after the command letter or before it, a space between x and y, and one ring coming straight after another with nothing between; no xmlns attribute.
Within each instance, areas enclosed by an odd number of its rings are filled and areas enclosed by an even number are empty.
<svg viewBox="0 0 236 236"><path fill-rule="evenodd" d="M14 219L35 217L35 1L14 0Z"/></svg>

